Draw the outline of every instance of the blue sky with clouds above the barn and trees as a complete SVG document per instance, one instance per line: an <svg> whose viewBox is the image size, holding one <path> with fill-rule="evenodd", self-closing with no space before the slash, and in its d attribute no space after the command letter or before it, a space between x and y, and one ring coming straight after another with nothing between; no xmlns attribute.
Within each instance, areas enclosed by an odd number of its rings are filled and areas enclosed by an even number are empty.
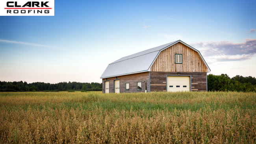
<svg viewBox="0 0 256 144"><path fill-rule="evenodd" d="M0 80L101 82L109 63L179 39L200 50L211 74L256 77L255 6L55 0L55 16L0 16Z"/></svg>

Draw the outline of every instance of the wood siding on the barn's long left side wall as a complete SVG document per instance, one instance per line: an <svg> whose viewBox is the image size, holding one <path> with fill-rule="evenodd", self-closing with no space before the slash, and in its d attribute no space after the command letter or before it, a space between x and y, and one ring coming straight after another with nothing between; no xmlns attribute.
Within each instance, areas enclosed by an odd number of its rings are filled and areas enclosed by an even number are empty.
<svg viewBox="0 0 256 144"><path fill-rule="evenodd" d="M109 93L114 92L114 79L115 77L112 78L107 78L109 80ZM149 90L149 72L142 72L138 74L128 74L125 76L117 76L117 79L120 79L120 93L124 92L144 92L144 81L147 81L147 91ZM104 90L104 81L106 79L102 79L102 93L105 93ZM137 90L137 81L141 81L142 85L142 90ZM125 83L130 83L130 90L125 91Z"/></svg>

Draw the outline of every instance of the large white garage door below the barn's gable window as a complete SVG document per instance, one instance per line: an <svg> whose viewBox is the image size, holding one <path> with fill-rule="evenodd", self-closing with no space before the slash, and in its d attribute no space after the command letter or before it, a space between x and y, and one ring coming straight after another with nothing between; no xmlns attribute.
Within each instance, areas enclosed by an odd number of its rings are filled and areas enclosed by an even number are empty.
<svg viewBox="0 0 256 144"><path fill-rule="evenodd" d="M189 91L189 76L167 76L167 91Z"/></svg>

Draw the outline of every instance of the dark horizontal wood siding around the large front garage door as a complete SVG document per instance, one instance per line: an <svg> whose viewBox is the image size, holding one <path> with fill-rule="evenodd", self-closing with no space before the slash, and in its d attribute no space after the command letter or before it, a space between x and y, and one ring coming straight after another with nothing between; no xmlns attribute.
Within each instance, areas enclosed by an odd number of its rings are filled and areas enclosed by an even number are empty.
<svg viewBox="0 0 256 144"><path fill-rule="evenodd" d="M150 92L166 91L166 75L178 75L177 72L150 72ZM206 91L206 72L181 72L191 75L191 90Z"/></svg>

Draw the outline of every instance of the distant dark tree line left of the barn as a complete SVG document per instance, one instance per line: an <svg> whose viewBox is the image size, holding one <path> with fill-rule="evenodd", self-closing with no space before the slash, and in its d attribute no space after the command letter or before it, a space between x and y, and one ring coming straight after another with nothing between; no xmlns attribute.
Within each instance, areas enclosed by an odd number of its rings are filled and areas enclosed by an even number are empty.
<svg viewBox="0 0 256 144"><path fill-rule="evenodd" d="M77 83L61 82L56 84L50 83L27 83L26 81L6 82L0 81L0 92L29 92L29 91L61 91L61 90L86 90L102 91L102 83Z"/></svg>

